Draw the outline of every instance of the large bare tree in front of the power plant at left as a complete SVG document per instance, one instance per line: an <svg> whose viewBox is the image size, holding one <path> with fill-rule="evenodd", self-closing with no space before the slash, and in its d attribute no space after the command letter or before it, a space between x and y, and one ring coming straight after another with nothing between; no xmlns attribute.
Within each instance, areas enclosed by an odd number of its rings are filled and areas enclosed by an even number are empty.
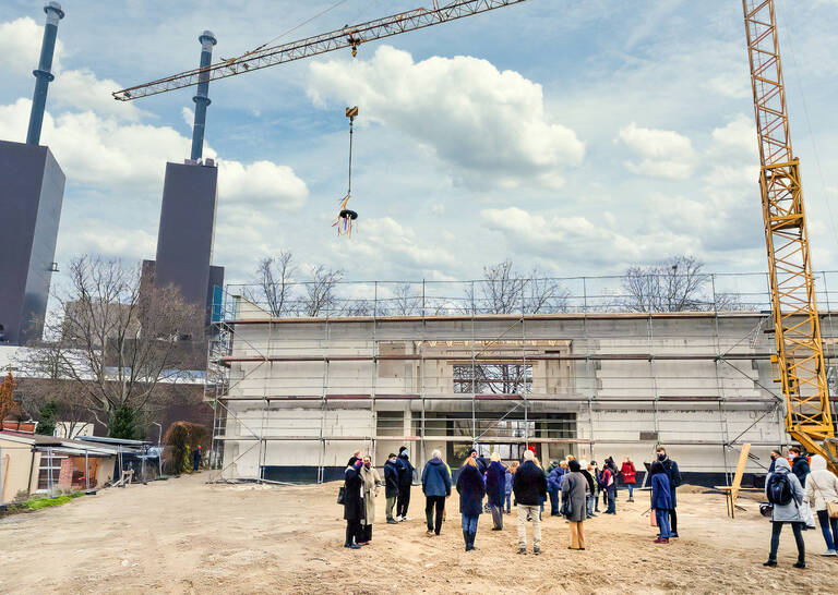
<svg viewBox="0 0 838 595"><path fill-rule="evenodd" d="M130 433L124 427L133 427L158 385L180 374L183 341L203 330L203 311L175 288L141 291L139 267L82 256L69 268L69 287L53 293L57 321L47 326L63 347L56 366L111 435Z"/></svg>

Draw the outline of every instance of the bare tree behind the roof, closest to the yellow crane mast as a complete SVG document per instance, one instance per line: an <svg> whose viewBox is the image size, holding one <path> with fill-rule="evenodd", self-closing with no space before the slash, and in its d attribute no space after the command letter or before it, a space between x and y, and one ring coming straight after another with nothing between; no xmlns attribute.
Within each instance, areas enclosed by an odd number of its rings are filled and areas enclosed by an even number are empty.
<svg viewBox="0 0 838 595"><path fill-rule="evenodd" d="M624 308L632 312L738 309L732 294L713 294L711 276L693 256L670 256L648 267L631 267L623 279Z"/></svg>

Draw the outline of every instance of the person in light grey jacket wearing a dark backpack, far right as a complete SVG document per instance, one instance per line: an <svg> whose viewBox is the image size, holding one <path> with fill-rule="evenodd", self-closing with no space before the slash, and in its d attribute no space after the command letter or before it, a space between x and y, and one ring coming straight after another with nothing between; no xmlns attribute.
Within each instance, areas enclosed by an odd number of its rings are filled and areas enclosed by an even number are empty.
<svg viewBox="0 0 838 595"><path fill-rule="evenodd" d="M777 548L780 545L780 532L783 524L790 524L798 545L798 561L794 568L806 568L806 546L803 543L802 527L805 518L801 506L805 498L800 479L791 472L791 465L786 459L777 459L774 473L765 481L765 497L774 505L771 510L771 549L768 561L763 566L777 566Z"/></svg>

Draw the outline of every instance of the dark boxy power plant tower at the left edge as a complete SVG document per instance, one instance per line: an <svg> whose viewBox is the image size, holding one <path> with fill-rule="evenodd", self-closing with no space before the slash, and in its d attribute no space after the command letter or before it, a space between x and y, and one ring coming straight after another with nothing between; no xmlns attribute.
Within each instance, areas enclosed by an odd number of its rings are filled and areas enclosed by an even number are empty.
<svg viewBox="0 0 838 595"><path fill-rule="evenodd" d="M0 141L0 325L10 343L40 336L64 196L45 146Z"/></svg>

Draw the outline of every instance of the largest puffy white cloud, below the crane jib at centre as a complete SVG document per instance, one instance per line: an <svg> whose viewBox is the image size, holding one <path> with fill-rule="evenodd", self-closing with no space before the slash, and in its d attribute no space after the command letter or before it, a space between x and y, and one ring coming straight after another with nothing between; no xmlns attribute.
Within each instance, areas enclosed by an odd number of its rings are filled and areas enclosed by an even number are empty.
<svg viewBox="0 0 838 595"><path fill-rule="evenodd" d="M358 105L359 123L402 131L448 165L455 182L475 189L561 185L585 153L576 133L544 112L541 85L476 58L414 62L382 46L367 61L311 64L309 96Z"/></svg>

